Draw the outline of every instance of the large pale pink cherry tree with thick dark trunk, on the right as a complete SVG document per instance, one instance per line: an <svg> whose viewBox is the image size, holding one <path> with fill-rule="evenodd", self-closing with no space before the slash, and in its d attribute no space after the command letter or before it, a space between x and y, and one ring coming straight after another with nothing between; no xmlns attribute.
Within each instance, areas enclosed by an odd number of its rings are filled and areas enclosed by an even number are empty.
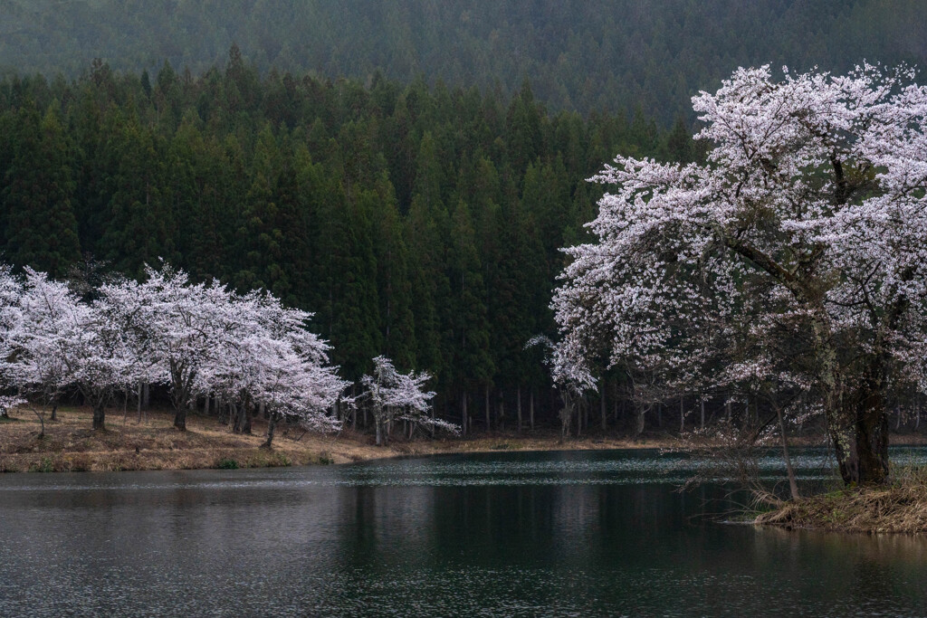
<svg viewBox="0 0 927 618"><path fill-rule="evenodd" d="M927 386L927 89L908 69L738 69L692 99L705 164L617 157L566 249L563 358L807 388L846 483L888 473L887 389Z"/></svg>

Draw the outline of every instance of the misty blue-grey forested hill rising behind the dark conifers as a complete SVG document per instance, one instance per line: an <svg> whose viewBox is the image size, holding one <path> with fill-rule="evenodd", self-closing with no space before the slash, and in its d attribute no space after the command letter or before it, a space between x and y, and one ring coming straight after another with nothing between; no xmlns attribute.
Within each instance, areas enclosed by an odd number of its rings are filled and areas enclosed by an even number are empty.
<svg viewBox="0 0 927 618"><path fill-rule="evenodd" d="M494 86L553 109L641 105L665 125L740 65L927 59L921 0L0 0L0 70L194 75L236 43L265 71Z"/></svg>

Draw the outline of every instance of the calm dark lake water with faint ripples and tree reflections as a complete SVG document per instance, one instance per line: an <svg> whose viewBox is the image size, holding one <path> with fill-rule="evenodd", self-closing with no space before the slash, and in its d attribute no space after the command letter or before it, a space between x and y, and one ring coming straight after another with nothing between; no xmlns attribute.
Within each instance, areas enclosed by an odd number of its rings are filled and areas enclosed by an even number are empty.
<svg viewBox="0 0 927 618"><path fill-rule="evenodd" d="M798 463L828 477L819 452ZM587 451L3 475L0 616L927 615L927 541L723 523L722 487L676 491L695 465Z"/></svg>

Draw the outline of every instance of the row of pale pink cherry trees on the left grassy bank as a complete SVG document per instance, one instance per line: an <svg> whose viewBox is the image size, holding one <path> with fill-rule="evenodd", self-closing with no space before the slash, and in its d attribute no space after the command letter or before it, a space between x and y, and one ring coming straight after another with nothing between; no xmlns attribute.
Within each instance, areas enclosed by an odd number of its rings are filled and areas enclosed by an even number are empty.
<svg viewBox="0 0 927 618"><path fill-rule="evenodd" d="M169 266L146 268L141 283L123 279L86 292L89 299L32 269L22 277L0 270L0 370L7 391L16 393L0 405L30 407L43 433L44 410L70 390L83 395L94 429L101 429L116 394L143 384L168 385L180 430L202 396L235 410L267 410L268 447L284 418L337 429L329 410L350 383L329 364L327 343L308 330L310 313L287 309L267 292L193 284ZM371 388L346 403L370 400L375 410L414 410L414 420L430 422L425 412L434 394L420 390L428 375L405 375L388 359L378 361L389 375L365 379Z"/></svg>

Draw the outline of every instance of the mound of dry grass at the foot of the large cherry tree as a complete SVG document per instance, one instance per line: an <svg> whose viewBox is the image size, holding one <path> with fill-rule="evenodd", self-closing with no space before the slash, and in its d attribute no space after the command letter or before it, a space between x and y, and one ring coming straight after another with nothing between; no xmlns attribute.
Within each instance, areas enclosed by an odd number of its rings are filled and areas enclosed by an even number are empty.
<svg viewBox="0 0 927 618"><path fill-rule="evenodd" d="M841 532L927 532L927 469L901 468L885 486L848 487L792 500L756 523Z"/></svg>

